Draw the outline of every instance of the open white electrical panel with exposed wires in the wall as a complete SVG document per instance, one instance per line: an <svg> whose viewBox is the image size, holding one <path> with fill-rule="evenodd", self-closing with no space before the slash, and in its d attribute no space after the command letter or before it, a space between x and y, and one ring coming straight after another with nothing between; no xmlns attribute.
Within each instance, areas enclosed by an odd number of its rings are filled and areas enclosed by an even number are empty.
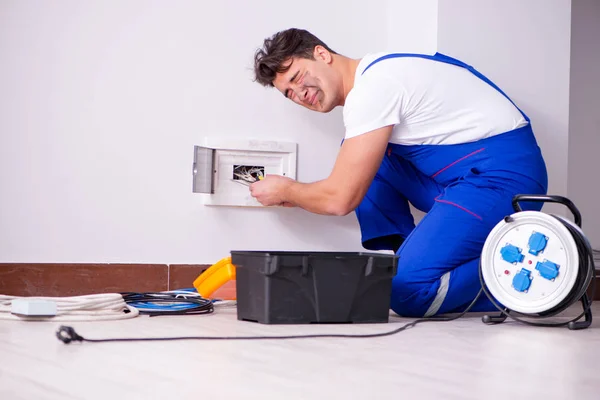
<svg viewBox="0 0 600 400"><path fill-rule="evenodd" d="M261 207L244 177L296 179L296 155L297 144L291 142L205 138L194 146L192 191L205 205Z"/></svg>

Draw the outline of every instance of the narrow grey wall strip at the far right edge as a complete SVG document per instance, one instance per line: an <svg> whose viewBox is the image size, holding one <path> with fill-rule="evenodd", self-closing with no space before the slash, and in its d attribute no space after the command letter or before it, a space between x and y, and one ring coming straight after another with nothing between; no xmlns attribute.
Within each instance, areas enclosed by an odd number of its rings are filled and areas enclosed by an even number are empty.
<svg viewBox="0 0 600 400"><path fill-rule="evenodd" d="M569 104L569 198L583 230L600 248L600 2L573 0Z"/></svg>

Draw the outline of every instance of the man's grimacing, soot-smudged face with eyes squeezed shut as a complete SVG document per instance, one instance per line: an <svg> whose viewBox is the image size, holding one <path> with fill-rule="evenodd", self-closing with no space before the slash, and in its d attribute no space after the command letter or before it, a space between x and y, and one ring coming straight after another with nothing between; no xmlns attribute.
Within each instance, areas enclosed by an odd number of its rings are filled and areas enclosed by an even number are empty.
<svg viewBox="0 0 600 400"><path fill-rule="evenodd" d="M315 60L292 58L289 69L277 74L273 84L285 97L319 112L329 112L340 105L339 79L331 66L331 54L315 49Z"/></svg>

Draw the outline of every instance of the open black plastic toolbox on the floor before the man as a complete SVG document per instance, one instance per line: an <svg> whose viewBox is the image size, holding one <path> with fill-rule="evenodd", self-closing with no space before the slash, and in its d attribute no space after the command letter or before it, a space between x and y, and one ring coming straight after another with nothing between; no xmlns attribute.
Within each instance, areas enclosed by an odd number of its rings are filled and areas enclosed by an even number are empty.
<svg viewBox="0 0 600 400"><path fill-rule="evenodd" d="M388 322L397 259L379 253L232 251L238 319Z"/></svg>

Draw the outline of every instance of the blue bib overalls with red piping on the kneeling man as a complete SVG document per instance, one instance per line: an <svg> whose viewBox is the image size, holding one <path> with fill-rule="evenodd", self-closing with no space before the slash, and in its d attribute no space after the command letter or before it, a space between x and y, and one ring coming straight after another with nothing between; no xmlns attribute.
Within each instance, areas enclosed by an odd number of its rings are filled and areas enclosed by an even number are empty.
<svg viewBox="0 0 600 400"><path fill-rule="evenodd" d="M466 68L510 100L474 68L440 53L386 55L363 73L395 57ZM389 144L356 216L364 248L395 250L394 243L402 243L392 283L395 313L422 317L464 310L481 288L479 258L487 235L514 212L513 197L547 193L541 150L529 118L519 111L527 125L491 138L453 145ZM409 203L426 213L416 227ZM539 211L541 204L522 208ZM494 309L482 296L472 311Z"/></svg>

